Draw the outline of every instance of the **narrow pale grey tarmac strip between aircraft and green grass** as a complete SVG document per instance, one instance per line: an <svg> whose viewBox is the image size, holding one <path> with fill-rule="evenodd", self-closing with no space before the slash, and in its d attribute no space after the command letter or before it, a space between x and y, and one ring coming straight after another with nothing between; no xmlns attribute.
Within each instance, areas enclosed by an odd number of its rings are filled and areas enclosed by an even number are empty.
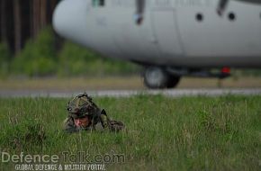
<svg viewBox="0 0 261 171"><path fill-rule="evenodd" d="M219 96L225 94L261 95L261 88L221 88L221 89L171 89L171 90L97 90L97 91L58 91L58 90L0 90L0 97L72 97L86 92L91 96L130 97L139 94L163 94L166 96Z"/></svg>

